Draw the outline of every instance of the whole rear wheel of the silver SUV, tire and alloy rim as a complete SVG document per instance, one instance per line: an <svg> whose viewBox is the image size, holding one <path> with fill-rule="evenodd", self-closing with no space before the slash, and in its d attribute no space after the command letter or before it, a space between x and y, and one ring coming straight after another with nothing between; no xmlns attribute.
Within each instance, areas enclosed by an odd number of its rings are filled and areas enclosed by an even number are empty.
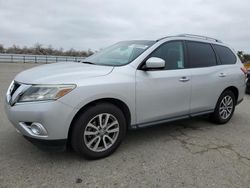
<svg viewBox="0 0 250 188"><path fill-rule="evenodd" d="M227 103L225 106L224 104ZM230 101L232 103L230 103ZM219 97L214 112L210 115L212 122L217 124L227 123L233 116L236 105L235 95L231 90L224 91Z"/></svg>

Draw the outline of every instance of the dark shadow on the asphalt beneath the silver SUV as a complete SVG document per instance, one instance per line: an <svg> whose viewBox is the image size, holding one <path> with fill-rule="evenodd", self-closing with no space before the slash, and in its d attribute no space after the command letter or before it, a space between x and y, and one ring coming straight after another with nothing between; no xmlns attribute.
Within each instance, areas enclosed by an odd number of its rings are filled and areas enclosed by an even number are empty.
<svg viewBox="0 0 250 188"><path fill-rule="evenodd" d="M215 125L208 121L207 117L195 117L192 119L184 119L169 123L156 124L154 126L140 128L136 130L128 130L124 142L121 144L118 151L113 155L122 155L122 153L130 152L131 150L137 149L141 144L151 144L152 142L157 142L168 138L169 140L174 140L173 136L180 135L182 132L189 133L194 131L202 131L204 129L212 129ZM72 149L68 148L65 152L55 152L55 151L44 151L37 149L30 143L30 147L33 147L32 153L38 155L39 158L44 158L45 160L53 161L91 161L78 156ZM29 147L29 148L30 148ZM31 149L31 148L30 148ZM41 156L42 155L42 156ZM111 155L112 156L112 155Z"/></svg>

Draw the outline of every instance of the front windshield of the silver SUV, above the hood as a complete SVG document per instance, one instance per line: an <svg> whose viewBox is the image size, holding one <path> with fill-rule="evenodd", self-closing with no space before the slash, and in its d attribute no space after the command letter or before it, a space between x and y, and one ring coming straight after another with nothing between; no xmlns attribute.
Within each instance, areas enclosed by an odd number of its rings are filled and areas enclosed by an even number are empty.
<svg viewBox="0 0 250 188"><path fill-rule="evenodd" d="M154 41L123 41L118 42L86 59L83 63L96 65L121 66L130 63L146 49L152 46Z"/></svg>

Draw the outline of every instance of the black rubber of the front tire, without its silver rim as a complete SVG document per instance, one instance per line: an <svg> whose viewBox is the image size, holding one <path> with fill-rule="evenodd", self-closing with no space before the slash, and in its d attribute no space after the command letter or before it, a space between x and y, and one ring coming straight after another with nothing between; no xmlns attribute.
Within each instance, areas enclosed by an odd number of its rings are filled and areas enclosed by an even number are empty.
<svg viewBox="0 0 250 188"><path fill-rule="evenodd" d="M103 113L108 113L112 115L112 117L116 118L116 120L118 121L119 132L116 135L116 140L113 142L113 145L110 145L108 149L106 149L105 151L98 151L98 152L92 151L91 148L89 148L85 143L85 140L87 138L87 136L84 135L85 130L88 123L92 121L93 118ZM85 110L81 115L77 117L72 126L73 126L71 135L72 148L78 154L87 159L99 159L107 157L108 155L112 154L121 144L127 130L126 119L124 117L123 112L117 106L110 103L99 103L89 107L87 110ZM94 137L96 137L96 135ZM102 140L103 137L104 136L100 136L101 140L100 142L102 142L104 147L104 141Z"/></svg>

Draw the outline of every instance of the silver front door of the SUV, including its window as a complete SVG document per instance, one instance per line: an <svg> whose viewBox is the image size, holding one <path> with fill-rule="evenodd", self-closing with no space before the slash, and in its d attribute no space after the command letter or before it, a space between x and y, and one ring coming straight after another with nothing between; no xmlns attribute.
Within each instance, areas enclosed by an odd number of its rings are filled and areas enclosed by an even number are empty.
<svg viewBox="0 0 250 188"><path fill-rule="evenodd" d="M137 70L137 123L187 115L192 80L190 71L185 69L183 42L166 42L152 52L150 57L164 59L166 66L163 70Z"/></svg>

